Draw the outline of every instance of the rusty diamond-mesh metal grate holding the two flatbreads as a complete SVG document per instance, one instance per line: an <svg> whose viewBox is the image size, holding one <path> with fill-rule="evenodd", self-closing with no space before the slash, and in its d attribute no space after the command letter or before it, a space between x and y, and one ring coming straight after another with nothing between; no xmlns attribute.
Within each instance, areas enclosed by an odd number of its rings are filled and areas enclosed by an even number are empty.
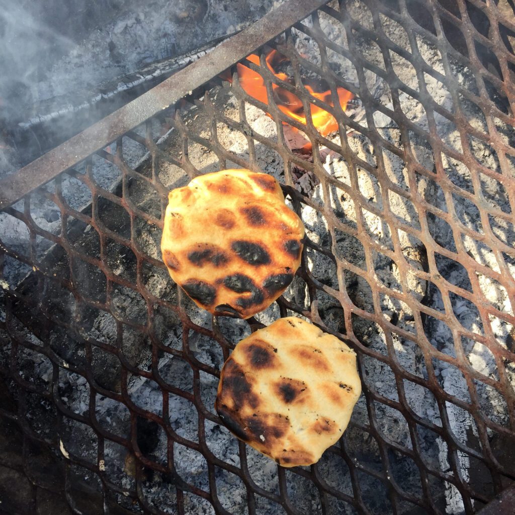
<svg viewBox="0 0 515 515"><path fill-rule="evenodd" d="M331 2L261 47L259 65L242 61L267 105L233 66L232 85L215 78L109 132L45 185L8 179L27 194L0 213L0 488L29 486L0 510L62 492L77 513L474 513L509 486L512 14ZM271 49L290 81L270 72ZM322 79L333 98L355 95L347 111L305 89ZM272 84L339 131L284 114ZM311 155L291 150L292 127ZM159 251L168 190L230 167L278 177L307 234L292 285L248 322L198 310ZM238 339L290 314L351 342L363 395L317 465L285 470L233 438L213 403Z"/></svg>

